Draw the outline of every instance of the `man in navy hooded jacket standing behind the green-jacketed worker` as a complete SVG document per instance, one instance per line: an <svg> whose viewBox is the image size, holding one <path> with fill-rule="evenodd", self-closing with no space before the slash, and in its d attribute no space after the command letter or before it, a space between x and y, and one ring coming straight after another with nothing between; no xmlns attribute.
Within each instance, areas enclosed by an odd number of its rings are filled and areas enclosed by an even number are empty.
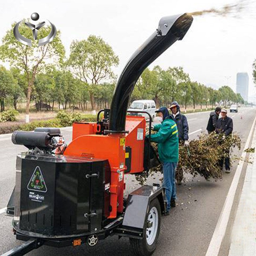
<svg viewBox="0 0 256 256"><path fill-rule="evenodd" d="M184 144L184 146L188 146L188 123L187 117L181 113L179 103L177 101L173 101L170 110L172 114L170 118L176 123L178 132L179 132L179 143ZM181 185L183 180L183 170L178 168L176 171L176 181L178 185Z"/></svg>

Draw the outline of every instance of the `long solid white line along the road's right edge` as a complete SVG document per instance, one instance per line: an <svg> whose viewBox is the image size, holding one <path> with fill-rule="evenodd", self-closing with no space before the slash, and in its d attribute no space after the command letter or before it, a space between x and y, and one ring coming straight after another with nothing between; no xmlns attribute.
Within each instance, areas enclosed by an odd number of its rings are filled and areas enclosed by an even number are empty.
<svg viewBox="0 0 256 256"><path fill-rule="evenodd" d="M219 253L219 248L221 247L221 243L224 238L226 228L228 225L231 208L232 208L233 201L234 201L234 195L236 193L240 175L241 175L241 172L243 169L244 160L242 160L242 159L245 159L245 156L246 156L246 152L244 152L244 150L246 148L248 148L249 143L251 141L251 137L252 137L252 134L254 131L255 121L256 121L256 117L254 118L252 128L250 130L250 133L248 135L247 141L246 141L244 149L243 149L243 153L241 155L241 160L238 163L236 173L234 174L232 183L231 183L229 191L228 191L228 195L226 197L225 203L224 203L222 211L221 211L221 215L219 216L217 225L213 232L213 236L212 236L211 242L209 244L209 247L208 247L208 250L207 250L207 253L205 254L205 256L218 255L218 253Z"/></svg>

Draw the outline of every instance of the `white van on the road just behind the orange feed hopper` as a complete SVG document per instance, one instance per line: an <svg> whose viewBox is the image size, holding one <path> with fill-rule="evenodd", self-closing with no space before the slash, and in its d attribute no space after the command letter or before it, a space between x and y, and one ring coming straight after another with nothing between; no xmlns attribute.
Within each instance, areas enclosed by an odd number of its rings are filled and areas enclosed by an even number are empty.
<svg viewBox="0 0 256 256"><path fill-rule="evenodd" d="M134 100L131 103L130 108L128 111L146 111L152 116L152 120L154 121L154 118L156 116L156 103L154 100ZM128 113L129 114L129 113ZM132 113L130 113L132 114ZM136 114L137 115L137 114ZM139 113L138 115L142 115L146 118L146 120L149 118L147 114L145 113Z"/></svg>

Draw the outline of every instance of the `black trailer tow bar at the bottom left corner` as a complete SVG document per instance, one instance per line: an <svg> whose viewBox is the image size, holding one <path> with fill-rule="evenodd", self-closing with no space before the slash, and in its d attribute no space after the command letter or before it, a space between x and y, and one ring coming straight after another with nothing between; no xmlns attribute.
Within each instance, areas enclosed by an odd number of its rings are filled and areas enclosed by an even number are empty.
<svg viewBox="0 0 256 256"><path fill-rule="evenodd" d="M43 242L38 239L30 239L25 243L12 248L10 251L2 254L1 256L20 256L39 248L43 245Z"/></svg>

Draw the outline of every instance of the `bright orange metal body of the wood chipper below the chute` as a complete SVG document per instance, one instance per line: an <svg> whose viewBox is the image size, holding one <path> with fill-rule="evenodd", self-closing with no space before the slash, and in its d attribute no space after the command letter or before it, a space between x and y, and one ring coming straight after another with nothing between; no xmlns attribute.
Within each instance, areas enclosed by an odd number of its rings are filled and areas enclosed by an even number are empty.
<svg viewBox="0 0 256 256"><path fill-rule="evenodd" d="M99 132L97 123L74 123L72 142L66 148L64 155L84 158L97 158L109 161L111 169L109 218L116 218L123 212L124 173L126 146L131 148L131 170L138 173L144 170L144 138L146 121L144 117L127 116L126 131L129 133L96 134Z"/></svg>

